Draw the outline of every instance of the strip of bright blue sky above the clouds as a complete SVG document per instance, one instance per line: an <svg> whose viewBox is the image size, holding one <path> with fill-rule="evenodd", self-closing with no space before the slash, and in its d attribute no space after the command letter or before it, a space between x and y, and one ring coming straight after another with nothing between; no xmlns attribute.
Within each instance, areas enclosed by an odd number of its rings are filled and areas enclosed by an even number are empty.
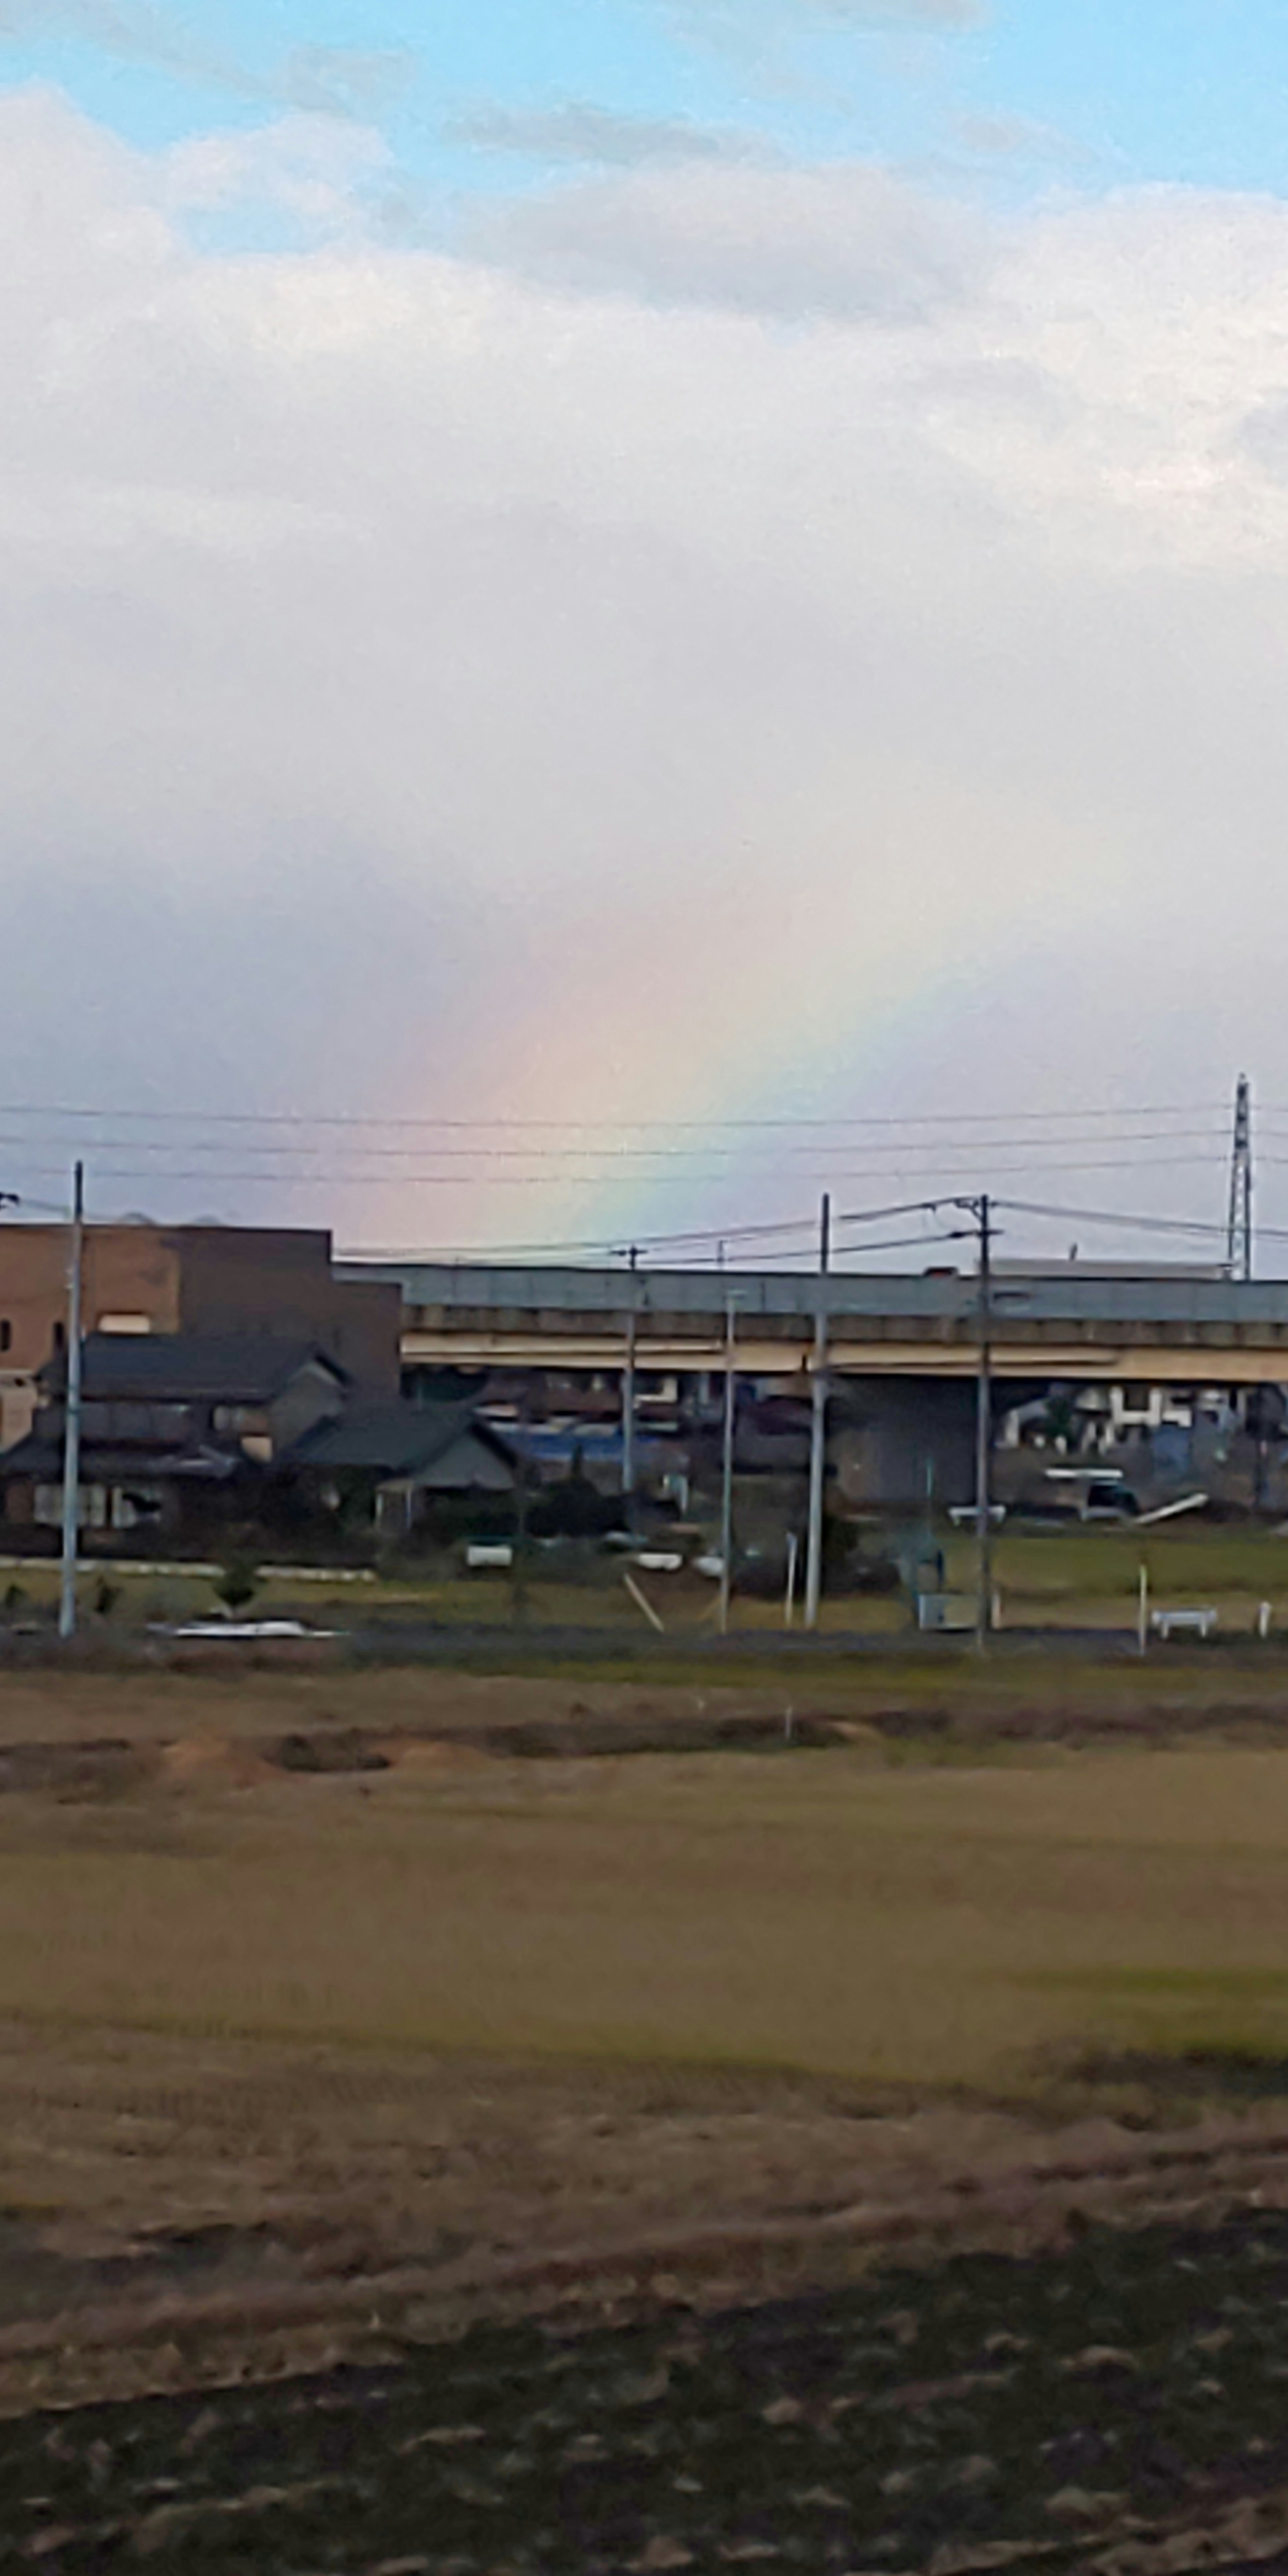
<svg viewBox="0 0 1288 2576"><path fill-rule="evenodd" d="M554 129L479 142L489 116L567 103L804 160L974 170L1002 196L1285 188L1283 0L886 0L866 18L863 0L18 0L0 77L52 80L139 144L335 98L430 204L569 167Z"/></svg>

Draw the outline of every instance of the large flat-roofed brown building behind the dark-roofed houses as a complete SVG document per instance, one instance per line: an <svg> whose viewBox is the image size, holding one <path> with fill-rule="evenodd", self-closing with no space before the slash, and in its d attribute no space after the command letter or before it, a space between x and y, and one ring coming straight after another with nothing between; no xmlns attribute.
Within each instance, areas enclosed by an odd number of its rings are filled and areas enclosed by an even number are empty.
<svg viewBox="0 0 1288 2576"><path fill-rule="evenodd" d="M67 1226L0 1224L0 1448L36 1417L36 1370L67 1337ZM335 1278L332 1239L270 1226L88 1226L85 1334L309 1342L371 1399L399 1391L402 1293Z"/></svg>

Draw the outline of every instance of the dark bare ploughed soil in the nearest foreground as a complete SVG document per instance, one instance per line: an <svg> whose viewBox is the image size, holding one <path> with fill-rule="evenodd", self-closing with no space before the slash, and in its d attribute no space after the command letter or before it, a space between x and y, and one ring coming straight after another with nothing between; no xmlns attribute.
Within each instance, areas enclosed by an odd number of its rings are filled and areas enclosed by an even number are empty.
<svg viewBox="0 0 1288 2576"><path fill-rule="evenodd" d="M1288 2555L1288 2221L5 2429L8 2563L260 2576L1182 2576ZM3 2548L3 2545L0 2545Z"/></svg>

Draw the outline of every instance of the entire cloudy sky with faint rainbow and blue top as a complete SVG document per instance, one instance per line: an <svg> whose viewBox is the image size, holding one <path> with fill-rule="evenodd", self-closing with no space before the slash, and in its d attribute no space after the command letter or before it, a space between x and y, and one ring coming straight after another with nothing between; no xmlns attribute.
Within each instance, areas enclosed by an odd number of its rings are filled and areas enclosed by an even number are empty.
<svg viewBox="0 0 1288 2576"><path fill-rule="evenodd" d="M1283 1270L1285 90L1270 0L0 0L0 1188L1113 1255L1247 1069Z"/></svg>

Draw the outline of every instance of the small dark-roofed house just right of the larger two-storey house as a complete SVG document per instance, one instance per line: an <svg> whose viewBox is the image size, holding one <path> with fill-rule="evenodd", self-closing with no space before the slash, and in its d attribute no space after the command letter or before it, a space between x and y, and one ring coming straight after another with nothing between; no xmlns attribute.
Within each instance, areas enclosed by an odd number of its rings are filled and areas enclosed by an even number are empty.
<svg viewBox="0 0 1288 2576"><path fill-rule="evenodd" d="M283 1466L325 1510L358 1504L384 1535L415 1530L440 1499L515 1492L510 1448L471 1404L355 1404L307 1430Z"/></svg>

